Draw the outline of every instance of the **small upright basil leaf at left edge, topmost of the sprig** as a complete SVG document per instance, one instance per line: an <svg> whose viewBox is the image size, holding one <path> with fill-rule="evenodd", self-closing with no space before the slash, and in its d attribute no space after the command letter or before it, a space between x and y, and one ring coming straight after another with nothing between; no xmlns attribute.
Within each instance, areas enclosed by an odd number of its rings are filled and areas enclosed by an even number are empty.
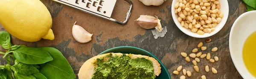
<svg viewBox="0 0 256 79"><path fill-rule="evenodd" d="M0 31L0 45L5 49L10 49L12 46L11 35L6 31Z"/></svg>

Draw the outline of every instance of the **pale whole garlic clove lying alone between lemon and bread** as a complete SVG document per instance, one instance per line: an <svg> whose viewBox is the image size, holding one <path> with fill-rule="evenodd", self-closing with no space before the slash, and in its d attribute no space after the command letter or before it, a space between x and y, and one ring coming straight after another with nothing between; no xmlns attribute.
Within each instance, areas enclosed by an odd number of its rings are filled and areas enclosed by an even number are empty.
<svg viewBox="0 0 256 79"><path fill-rule="evenodd" d="M90 42L92 40L93 34L90 34L86 30L84 30L84 28L82 28L81 26L75 25L75 24L76 23L74 23L72 28L72 34L75 40L80 43Z"/></svg>

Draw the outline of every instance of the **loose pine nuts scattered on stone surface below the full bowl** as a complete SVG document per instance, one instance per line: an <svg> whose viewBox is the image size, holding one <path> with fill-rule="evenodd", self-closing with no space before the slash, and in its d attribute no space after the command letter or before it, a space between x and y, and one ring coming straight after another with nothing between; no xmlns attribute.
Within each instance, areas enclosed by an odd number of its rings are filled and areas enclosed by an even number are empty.
<svg viewBox="0 0 256 79"><path fill-rule="evenodd" d="M211 39L208 38L208 39L205 40L205 41L206 41L206 42L210 42ZM206 47L206 46L203 46L203 42L199 42L197 47L198 47L198 48L201 48L201 51L207 50L207 47ZM194 65L193 68L194 68L194 70L195 70L196 72L199 72L199 67L198 67L198 65L197 65L197 63L200 62L199 57L200 57L201 59L206 58L207 60L209 60L209 62L212 62L212 63L217 62L217 61L219 60L219 59L218 59L218 56L214 56L213 59L212 59L212 58L211 58L211 53L203 54L201 51L198 52L198 48L194 48L194 49L192 50L192 53L189 54L189 56L187 56L187 53L185 53L185 52L181 52L181 53L180 53L180 55L185 58L186 62L190 62L190 61L191 61L189 57L194 58L194 60L192 60L192 63L193 63L193 65ZM212 51L212 52L216 52L216 51L218 51L218 48L217 48L217 47L214 47L214 48L211 49L211 51ZM195 54L196 52L198 52L198 53ZM172 73L175 74L175 75L179 75L179 71L181 71L182 68L183 68L183 66L180 65L180 66L177 68L177 70L176 70L176 71L173 71ZM205 71L206 71L206 72L209 72L209 66L208 66L208 65L205 66ZM218 73L218 71L217 71L215 68L213 68L213 67L211 68L211 71L212 71L212 73L214 73L214 74ZM190 72L190 71L186 71L186 69L183 69L182 72L183 72L183 75L180 76L180 79L185 79L185 78L186 78L186 75L189 76L189 77L191 76L191 72ZM203 75L203 76L201 76L201 78L202 78L202 79L206 79L206 76Z"/></svg>

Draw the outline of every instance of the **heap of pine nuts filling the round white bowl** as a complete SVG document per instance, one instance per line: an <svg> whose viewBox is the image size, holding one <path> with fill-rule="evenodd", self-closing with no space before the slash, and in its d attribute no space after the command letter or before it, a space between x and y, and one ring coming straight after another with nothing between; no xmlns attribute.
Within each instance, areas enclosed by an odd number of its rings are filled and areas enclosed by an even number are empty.
<svg viewBox="0 0 256 79"><path fill-rule="evenodd" d="M200 35L215 31L224 16L218 0L178 0L174 8L181 26Z"/></svg>

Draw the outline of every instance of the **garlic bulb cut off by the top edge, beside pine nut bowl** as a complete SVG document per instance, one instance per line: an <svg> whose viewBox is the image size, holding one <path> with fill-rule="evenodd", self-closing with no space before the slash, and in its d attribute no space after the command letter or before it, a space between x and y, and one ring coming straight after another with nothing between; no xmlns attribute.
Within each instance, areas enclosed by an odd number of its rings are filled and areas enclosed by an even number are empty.
<svg viewBox="0 0 256 79"><path fill-rule="evenodd" d="M166 0L140 0L140 2L142 2L146 6L160 6L165 1Z"/></svg>

